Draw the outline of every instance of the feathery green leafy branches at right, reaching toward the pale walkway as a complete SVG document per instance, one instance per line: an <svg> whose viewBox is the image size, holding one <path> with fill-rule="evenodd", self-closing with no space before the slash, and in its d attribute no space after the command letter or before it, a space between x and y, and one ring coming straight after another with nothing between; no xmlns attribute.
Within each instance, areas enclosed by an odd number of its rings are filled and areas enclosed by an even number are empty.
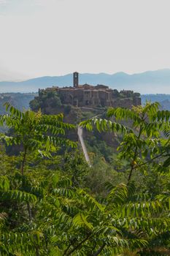
<svg viewBox="0 0 170 256"><path fill-rule="evenodd" d="M115 121L107 119L90 119L82 121L80 125L87 129L98 129L98 132L120 132L123 134L123 141L117 150L120 152L120 159L129 162L130 173L128 181L134 170L143 170L147 164L152 167L158 163L158 171L168 172L170 165L170 140L168 110L158 110L158 103L147 103L142 107L134 107L131 110L125 108L110 108L107 116L115 117L116 120L131 120L131 127L125 127ZM166 138L162 136L162 133ZM147 169L147 168L146 168Z"/></svg>

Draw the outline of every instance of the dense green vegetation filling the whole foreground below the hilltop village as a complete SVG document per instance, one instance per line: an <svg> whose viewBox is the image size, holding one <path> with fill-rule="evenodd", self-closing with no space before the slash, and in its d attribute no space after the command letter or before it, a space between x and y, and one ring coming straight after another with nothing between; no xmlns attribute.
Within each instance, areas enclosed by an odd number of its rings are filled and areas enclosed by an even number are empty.
<svg viewBox="0 0 170 256"><path fill-rule="evenodd" d="M76 127L62 114L6 108L9 114L0 118L9 127L9 135L1 134L1 255L170 254L168 110L157 103L110 108L107 118L81 123L121 135L111 170L93 156L88 167L77 143L66 138ZM11 146L20 153L7 155Z"/></svg>

